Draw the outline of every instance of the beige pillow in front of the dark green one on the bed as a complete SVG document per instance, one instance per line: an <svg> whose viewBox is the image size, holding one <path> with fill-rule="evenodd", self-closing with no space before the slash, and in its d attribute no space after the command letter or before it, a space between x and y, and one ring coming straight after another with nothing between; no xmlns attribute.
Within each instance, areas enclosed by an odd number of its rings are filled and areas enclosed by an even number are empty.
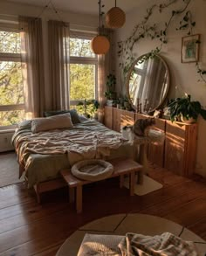
<svg viewBox="0 0 206 256"><path fill-rule="evenodd" d="M72 127L73 124L71 120L71 115L69 113L58 114L46 118L37 118L31 122L32 133Z"/></svg>

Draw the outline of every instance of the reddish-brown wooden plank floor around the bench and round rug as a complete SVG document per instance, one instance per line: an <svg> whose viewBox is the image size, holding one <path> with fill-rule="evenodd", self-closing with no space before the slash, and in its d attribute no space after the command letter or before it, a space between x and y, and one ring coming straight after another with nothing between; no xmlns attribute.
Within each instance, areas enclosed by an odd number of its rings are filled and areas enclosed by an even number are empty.
<svg viewBox="0 0 206 256"><path fill-rule="evenodd" d="M9 166L8 166L9 171ZM187 179L154 168L163 189L129 197L117 179L87 185L83 213L68 203L67 189L46 193L38 205L23 183L0 189L0 255L55 255L59 246L81 225L116 213L141 212L168 218L206 239L206 181Z"/></svg>

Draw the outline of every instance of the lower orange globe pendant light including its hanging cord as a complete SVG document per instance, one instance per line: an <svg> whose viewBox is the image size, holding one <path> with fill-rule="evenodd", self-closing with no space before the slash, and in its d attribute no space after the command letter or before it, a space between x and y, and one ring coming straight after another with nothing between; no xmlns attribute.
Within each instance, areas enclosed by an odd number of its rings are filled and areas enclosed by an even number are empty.
<svg viewBox="0 0 206 256"><path fill-rule="evenodd" d="M101 0L98 2L99 3L99 16L100 16L100 31L99 35L94 37L93 40L91 41L91 48L95 54L106 54L106 52L109 51L109 40L101 35Z"/></svg>

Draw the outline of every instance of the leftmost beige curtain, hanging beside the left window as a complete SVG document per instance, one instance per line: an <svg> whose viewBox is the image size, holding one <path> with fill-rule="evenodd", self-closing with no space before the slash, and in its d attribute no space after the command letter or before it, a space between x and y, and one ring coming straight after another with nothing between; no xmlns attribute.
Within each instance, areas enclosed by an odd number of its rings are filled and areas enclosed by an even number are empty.
<svg viewBox="0 0 206 256"><path fill-rule="evenodd" d="M19 17L19 29L26 118L38 117L43 115L45 108L42 21Z"/></svg>

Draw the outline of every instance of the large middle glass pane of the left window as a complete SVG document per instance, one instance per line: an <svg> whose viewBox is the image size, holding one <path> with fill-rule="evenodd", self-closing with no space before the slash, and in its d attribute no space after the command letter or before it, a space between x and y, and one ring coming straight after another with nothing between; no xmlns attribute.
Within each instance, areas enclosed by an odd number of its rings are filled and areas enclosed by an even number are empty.
<svg viewBox="0 0 206 256"><path fill-rule="evenodd" d="M24 103L21 63L0 61L0 105Z"/></svg>

